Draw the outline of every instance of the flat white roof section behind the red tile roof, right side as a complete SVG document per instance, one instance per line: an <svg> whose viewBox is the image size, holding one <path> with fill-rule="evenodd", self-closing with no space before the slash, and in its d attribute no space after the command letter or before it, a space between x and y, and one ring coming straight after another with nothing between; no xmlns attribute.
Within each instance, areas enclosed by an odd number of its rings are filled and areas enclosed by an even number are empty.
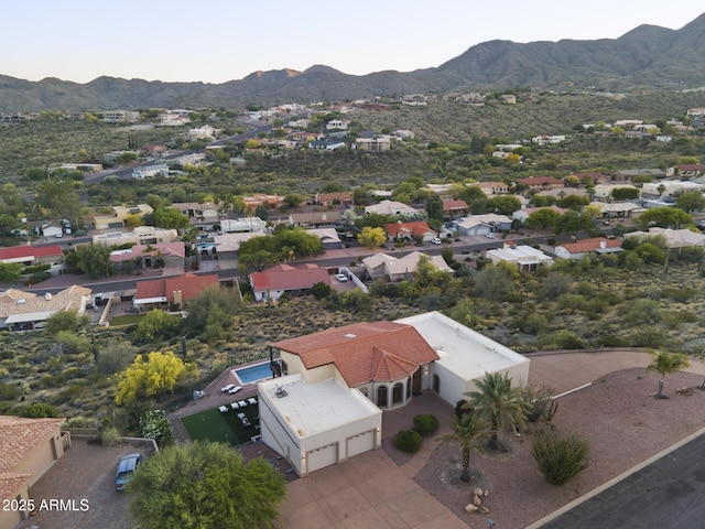
<svg viewBox="0 0 705 529"><path fill-rule="evenodd" d="M475 380L486 373L529 363L529 358L440 312L402 317L395 322L419 331L441 357L435 363L464 380Z"/></svg>

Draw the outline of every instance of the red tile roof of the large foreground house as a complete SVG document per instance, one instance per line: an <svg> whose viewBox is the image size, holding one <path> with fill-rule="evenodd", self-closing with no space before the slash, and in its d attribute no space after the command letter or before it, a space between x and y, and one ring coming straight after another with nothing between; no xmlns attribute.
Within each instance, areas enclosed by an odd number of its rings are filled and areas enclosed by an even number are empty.
<svg viewBox="0 0 705 529"><path fill-rule="evenodd" d="M399 380L438 359L414 327L393 322L356 323L271 346L297 355L306 369L335 364L349 387Z"/></svg>

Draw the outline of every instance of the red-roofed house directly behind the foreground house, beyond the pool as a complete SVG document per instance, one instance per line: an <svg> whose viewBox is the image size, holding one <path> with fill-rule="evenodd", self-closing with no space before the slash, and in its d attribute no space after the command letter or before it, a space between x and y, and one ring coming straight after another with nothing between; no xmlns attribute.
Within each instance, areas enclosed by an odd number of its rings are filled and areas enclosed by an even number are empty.
<svg viewBox="0 0 705 529"><path fill-rule="evenodd" d="M284 292L305 295L315 283L330 285L330 276L328 270L314 263L299 267L276 264L261 272L250 273L256 301L278 300Z"/></svg>

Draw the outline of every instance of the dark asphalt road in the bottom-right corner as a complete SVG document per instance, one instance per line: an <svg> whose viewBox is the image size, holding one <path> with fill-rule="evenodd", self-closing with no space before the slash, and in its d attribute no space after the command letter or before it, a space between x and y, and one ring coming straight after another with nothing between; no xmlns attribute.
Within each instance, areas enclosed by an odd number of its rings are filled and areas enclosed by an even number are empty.
<svg viewBox="0 0 705 529"><path fill-rule="evenodd" d="M705 435L699 435L541 528L702 528L703 498Z"/></svg>

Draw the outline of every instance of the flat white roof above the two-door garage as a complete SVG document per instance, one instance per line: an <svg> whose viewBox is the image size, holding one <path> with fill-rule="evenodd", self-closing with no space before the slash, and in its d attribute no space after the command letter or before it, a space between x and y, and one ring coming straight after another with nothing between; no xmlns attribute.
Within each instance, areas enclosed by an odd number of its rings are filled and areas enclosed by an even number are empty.
<svg viewBox="0 0 705 529"><path fill-rule="evenodd" d="M276 396L279 388L286 392L285 397ZM290 375L260 382L259 392L269 397L299 439L382 413L359 391L333 378L306 384L301 375Z"/></svg>

